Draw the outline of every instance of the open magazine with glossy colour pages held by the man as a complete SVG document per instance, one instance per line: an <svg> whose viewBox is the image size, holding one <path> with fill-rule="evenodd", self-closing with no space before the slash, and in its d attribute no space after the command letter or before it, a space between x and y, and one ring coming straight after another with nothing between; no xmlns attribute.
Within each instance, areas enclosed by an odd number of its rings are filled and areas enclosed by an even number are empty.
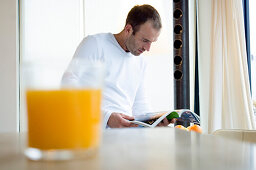
<svg viewBox="0 0 256 170"><path fill-rule="evenodd" d="M185 118L189 119L191 123L200 124L200 118L197 114L193 113L188 109L181 109L181 110L173 110L173 111L164 111L164 112L153 112L153 113L146 113L143 115L135 115L134 120L131 122L137 124L142 127L156 127L164 118L171 123L173 118Z"/></svg>

